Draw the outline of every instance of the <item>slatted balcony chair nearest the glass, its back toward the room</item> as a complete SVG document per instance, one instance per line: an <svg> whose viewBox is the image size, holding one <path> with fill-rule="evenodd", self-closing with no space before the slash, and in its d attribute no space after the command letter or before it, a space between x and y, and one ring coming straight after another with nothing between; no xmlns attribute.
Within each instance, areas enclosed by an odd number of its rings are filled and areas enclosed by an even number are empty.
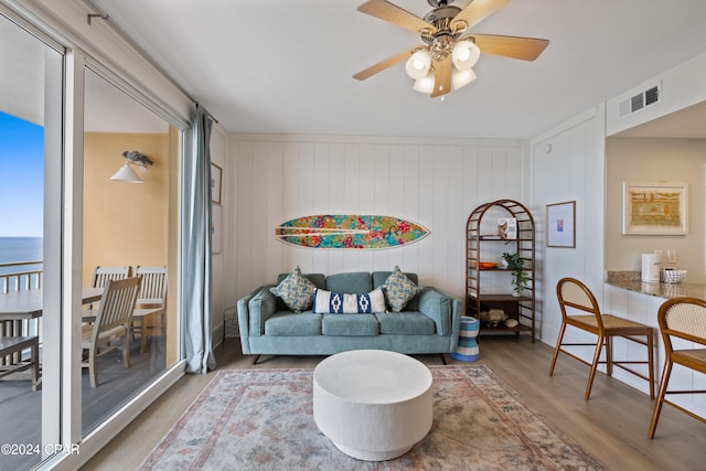
<svg viewBox="0 0 706 471"><path fill-rule="evenodd" d="M82 349L87 351L82 367L88 368L90 387L98 386L98 358L117 349L122 350L122 362L130 367L130 320L140 290L140 278L132 277L106 282L96 319L83 325ZM111 341L122 338L122 345Z"/></svg>

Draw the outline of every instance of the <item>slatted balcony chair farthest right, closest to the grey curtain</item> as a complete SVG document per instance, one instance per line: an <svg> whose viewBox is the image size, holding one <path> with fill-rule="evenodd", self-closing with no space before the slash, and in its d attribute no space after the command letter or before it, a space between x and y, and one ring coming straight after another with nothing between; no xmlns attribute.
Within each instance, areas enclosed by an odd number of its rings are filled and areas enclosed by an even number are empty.
<svg viewBox="0 0 706 471"><path fill-rule="evenodd" d="M142 279L140 293L132 312L132 335L140 335L140 352L147 352L147 338L157 332L164 335L167 304L167 267L135 268L135 275Z"/></svg>

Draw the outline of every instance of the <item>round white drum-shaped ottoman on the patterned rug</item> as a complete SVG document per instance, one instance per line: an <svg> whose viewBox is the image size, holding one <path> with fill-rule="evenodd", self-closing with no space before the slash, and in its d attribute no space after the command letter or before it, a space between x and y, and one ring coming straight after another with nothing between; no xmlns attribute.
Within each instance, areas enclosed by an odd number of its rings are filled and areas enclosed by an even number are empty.
<svg viewBox="0 0 706 471"><path fill-rule="evenodd" d="M431 373L384 350L353 350L313 372L313 418L344 453L365 461L400 457L431 429Z"/></svg>

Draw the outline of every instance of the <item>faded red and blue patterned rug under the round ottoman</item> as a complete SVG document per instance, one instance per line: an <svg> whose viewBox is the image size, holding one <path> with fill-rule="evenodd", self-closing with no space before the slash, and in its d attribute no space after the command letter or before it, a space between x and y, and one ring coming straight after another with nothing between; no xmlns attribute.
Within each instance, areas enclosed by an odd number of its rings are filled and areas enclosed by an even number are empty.
<svg viewBox="0 0 706 471"><path fill-rule="evenodd" d="M141 470L599 470L483 365L429 366L431 431L400 458L359 461L313 420L312 370L221 371Z"/></svg>

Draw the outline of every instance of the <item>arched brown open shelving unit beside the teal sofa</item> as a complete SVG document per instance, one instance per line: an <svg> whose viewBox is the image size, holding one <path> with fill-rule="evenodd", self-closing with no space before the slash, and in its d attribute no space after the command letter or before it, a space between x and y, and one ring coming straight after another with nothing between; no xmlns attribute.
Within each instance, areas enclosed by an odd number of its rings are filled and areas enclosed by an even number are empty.
<svg viewBox="0 0 706 471"><path fill-rule="evenodd" d="M516 238L501 238L498 235L498 218L513 217L517 223ZM483 217L485 216L485 221ZM502 244L502 249L499 245ZM506 268L481 268L483 256L488 253L516 251L525 264L530 281L521 297L512 296L511 270ZM495 260L493 260L495 261ZM494 279L495 286L506 286L506 292L485 292L481 288L481 279ZM506 279L506 283L503 280ZM503 288L504 289L504 288ZM501 289L498 289L501 291ZM481 322L480 335L515 334L530 332L532 342L535 339L535 229L534 218L530 211L513 200L498 200L481 204L469 215L466 225L466 312L467 315L480 319L482 311L502 309L509 319L516 319L518 324L509 328L504 323L492 327Z"/></svg>

